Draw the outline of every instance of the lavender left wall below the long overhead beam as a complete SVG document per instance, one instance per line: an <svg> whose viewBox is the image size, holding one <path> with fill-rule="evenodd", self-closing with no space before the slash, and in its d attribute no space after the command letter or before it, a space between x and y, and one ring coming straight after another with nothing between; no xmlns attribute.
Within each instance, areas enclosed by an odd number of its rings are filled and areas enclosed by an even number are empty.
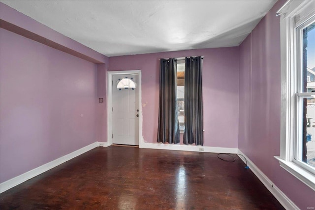
<svg viewBox="0 0 315 210"><path fill-rule="evenodd" d="M0 45L3 182L96 141L97 72L94 63L7 30Z"/></svg>

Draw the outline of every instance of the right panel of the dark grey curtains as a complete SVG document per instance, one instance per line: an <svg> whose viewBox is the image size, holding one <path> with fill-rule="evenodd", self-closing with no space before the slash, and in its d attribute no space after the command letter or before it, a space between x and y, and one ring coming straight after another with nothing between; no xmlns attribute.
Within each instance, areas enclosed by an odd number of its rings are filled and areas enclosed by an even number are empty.
<svg viewBox="0 0 315 210"><path fill-rule="evenodd" d="M203 145L201 57L185 59L184 144Z"/></svg>

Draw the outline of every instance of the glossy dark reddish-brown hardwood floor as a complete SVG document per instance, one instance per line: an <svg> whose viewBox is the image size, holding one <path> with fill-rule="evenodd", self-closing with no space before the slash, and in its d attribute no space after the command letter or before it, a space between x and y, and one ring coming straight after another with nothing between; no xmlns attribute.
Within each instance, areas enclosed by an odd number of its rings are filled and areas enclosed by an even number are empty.
<svg viewBox="0 0 315 210"><path fill-rule="evenodd" d="M0 209L284 209L244 166L216 153L95 148L1 193Z"/></svg>

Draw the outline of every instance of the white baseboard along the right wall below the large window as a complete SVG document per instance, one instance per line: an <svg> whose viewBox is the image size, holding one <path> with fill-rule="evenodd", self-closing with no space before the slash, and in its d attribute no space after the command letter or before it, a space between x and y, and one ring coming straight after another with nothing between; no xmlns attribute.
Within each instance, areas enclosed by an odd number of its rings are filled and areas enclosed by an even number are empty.
<svg viewBox="0 0 315 210"><path fill-rule="evenodd" d="M256 175L256 177L267 187L286 210L299 210L299 208L274 183L272 183L272 181L269 180L268 177L262 173L262 171L260 171L241 150L238 150L238 153L244 155L247 160L247 165L250 167L254 175ZM239 157L245 162L241 155L239 155Z"/></svg>

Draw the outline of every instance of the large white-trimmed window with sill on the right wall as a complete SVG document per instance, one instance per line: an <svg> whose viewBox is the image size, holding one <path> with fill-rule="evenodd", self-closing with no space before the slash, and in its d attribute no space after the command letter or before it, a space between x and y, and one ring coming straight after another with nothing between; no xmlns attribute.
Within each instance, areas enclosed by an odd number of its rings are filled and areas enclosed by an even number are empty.
<svg viewBox="0 0 315 210"><path fill-rule="evenodd" d="M280 165L315 190L315 1L287 1L281 15Z"/></svg>

